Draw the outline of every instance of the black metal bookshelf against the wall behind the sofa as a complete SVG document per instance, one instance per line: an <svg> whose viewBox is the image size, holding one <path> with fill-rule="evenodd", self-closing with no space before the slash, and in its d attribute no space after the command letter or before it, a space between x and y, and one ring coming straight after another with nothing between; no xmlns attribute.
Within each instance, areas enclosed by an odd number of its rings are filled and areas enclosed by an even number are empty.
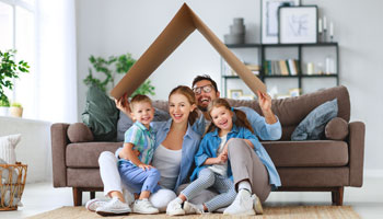
<svg viewBox="0 0 383 219"><path fill-rule="evenodd" d="M304 83L305 79L332 79L335 80L336 84L339 85L339 47L338 43L317 43L317 44L237 44L237 45L227 45L228 48L232 49L234 54L237 56L242 53L252 54L253 58L251 60L243 60L246 62L257 64L259 66L258 70L258 78L267 85L269 80L278 79L278 80L285 80L285 79L293 79L298 80L298 89L302 91L302 85ZM321 51L321 48L330 48L328 51ZM246 51L249 49L249 51ZM272 54L271 56L268 55L268 50L276 50L279 55L286 55L285 60L293 59L297 65L295 72L297 74L291 74L291 70L289 68L288 74L281 74L280 72L274 71L272 73L267 70L267 67L265 65L270 66L269 62L274 59ZM289 53L285 53L283 49L290 49L294 50L294 57ZM280 53L279 53L280 51ZM306 64L310 62L310 56L307 54L316 54L320 57L323 57L324 60L326 56L332 57L332 72L325 73L325 61L323 61L322 66L320 66L314 72L307 73L307 67ZM305 58L309 57L309 58ZM280 58L277 58L277 61L279 61ZM281 59L283 60L283 58ZM271 62L271 61L270 61ZM275 62L274 62L275 65ZM289 66L287 61L287 66ZM291 66L290 66L291 67ZM232 72L228 71L228 65L223 59L221 59L221 79L222 79L222 88L221 90L224 91L224 96L228 97L228 81L230 80L237 80L240 79L239 76L232 74ZM277 72L277 73L276 73ZM285 71L286 73L286 71ZM281 81L282 82L282 81ZM302 93L301 93L302 94Z"/></svg>

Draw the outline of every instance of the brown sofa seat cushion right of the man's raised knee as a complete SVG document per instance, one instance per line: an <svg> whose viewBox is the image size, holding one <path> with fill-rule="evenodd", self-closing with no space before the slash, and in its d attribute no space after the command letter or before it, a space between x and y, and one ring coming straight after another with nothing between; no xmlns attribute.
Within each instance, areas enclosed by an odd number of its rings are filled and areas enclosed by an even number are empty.
<svg viewBox="0 0 383 219"><path fill-rule="evenodd" d="M263 141L276 166L344 166L348 164L345 141Z"/></svg>

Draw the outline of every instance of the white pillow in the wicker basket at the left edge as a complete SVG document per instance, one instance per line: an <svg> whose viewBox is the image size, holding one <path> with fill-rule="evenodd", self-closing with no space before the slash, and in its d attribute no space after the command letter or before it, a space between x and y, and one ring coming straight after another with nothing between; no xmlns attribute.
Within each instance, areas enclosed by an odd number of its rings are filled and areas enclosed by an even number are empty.
<svg viewBox="0 0 383 219"><path fill-rule="evenodd" d="M16 153L14 149L21 139L21 134L0 137L0 158L8 164L16 163Z"/></svg>

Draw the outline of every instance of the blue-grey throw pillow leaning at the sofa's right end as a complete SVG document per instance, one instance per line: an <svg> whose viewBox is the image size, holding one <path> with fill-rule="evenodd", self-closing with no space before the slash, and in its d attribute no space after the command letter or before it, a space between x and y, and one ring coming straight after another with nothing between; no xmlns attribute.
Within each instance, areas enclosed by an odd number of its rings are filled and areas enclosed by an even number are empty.
<svg viewBox="0 0 383 219"><path fill-rule="evenodd" d="M325 125L338 115L338 102L336 99L327 101L314 108L297 126L291 135L291 140L318 140L324 136Z"/></svg>

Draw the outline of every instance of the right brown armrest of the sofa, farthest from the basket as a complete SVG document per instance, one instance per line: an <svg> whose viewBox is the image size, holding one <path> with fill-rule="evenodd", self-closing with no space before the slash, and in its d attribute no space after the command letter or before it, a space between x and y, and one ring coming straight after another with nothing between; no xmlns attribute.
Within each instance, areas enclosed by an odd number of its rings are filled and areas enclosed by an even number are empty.
<svg viewBox="0 0 383 219"><path fill-rule="evenodd" d="M363 184L364 134L364 123L349 123L350 186L361 187Z"/></svg>

